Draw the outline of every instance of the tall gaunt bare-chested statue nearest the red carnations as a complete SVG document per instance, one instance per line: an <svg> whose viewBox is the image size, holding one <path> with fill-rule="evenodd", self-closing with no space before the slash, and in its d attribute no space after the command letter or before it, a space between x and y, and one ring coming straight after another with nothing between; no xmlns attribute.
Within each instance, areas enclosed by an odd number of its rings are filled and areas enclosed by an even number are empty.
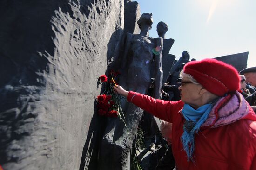
<svg viewBox="0 0 256 170"><path fill-rule="evenodd" d="M154 97L161 96L162 85L162 38L148 37L149 29L153 24L152 13L143 13L137 21L140 34L126 34L124 47L119 59L113 68L121 75L118 83L124 88L147 94L151 78L155 78ZM157 53L154 49L158 47ZM159 48L161 47L161 48ZM124 123L119 119L109 119L100 148L99 169L101 170L128 170L130 164L130 150L135 138L143 110L121 100L125 115ZM127 129L129 132L127 132Z"/></svg>

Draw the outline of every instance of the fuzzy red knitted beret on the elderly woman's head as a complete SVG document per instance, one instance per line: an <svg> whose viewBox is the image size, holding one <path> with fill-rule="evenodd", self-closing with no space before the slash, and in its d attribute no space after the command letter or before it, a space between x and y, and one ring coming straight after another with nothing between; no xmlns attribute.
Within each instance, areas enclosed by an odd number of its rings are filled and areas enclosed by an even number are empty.
<svg viewBox="0 0 256 170"><path fill-rule="evenodd" d="M216 59L207 58L201 61L191 61L184 66L183 71L193 76L206 90L218 96L223 96L240 88L237 70Z"/></svg>

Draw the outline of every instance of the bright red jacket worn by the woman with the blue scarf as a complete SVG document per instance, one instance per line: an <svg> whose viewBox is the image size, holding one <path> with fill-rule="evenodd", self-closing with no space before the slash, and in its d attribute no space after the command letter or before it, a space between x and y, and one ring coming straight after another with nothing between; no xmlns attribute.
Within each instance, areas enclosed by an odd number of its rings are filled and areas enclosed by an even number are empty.
<svg viewBox="0 0 256 170"><path fill-rule="evenodd" d="M234 120L234 116L228 115L229 113L220 118L219 114L222 113L218 110L221 108L214 106L213 114L206 120L209 126L201 127L195 134L193 163L187 161L181 142L185 121L180 112L184 105L182 101L156 100L135 92L129 92L127 100L156 117L173 123L172 151L178 170L256 170L256 115L246 101L248 107L245 113L239 113L242 115L239 120ZM229 100L230 97L218 106ZM231 123L222 125L226 120Z"/></svg>

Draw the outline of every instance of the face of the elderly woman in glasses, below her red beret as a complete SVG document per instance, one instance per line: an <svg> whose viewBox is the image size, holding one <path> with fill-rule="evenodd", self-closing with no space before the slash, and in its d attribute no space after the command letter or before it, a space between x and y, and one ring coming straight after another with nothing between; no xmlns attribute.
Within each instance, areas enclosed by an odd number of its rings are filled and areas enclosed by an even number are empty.
<svg viewBox="0 0 256 170"><path fill-rule="evenodd" d="M193 107L202 97L202 95L199 93L202 89L202 85L194 84L192 82L189 83L190 81L187 78L182 79L182 82L187 83L182 83L182 85L179 87L179 90L181 91L181 100Z"/></svg>

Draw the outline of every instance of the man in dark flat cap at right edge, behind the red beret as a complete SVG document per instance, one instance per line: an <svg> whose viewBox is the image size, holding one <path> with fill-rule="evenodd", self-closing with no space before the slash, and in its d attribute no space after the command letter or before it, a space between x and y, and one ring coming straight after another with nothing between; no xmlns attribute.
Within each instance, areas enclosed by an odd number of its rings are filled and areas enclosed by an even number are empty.
<svg viewBox="0 0 256 170"><path fill-rule="evenodd" d="M239 73L245 76L246 83L256 86L256 67L243 69ZM253 107L253 110L256 111L256 91L250 96L246 97L246 101L248 101L250 106Z"/></svg>

